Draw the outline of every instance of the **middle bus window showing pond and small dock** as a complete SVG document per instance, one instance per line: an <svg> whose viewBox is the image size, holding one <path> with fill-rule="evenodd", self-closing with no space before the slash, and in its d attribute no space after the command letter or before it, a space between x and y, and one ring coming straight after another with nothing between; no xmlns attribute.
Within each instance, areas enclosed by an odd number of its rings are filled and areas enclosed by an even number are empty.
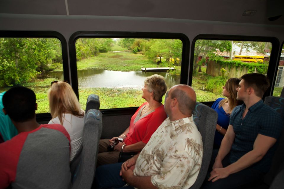
<svg viewBox="0 0 284 189"><path fill-rule="evenodd" d="M180 84L179 39L78 38L75 43L79 101L100 97L101 109L140 106L147 76L164 76L167 87Z"/></svg>

